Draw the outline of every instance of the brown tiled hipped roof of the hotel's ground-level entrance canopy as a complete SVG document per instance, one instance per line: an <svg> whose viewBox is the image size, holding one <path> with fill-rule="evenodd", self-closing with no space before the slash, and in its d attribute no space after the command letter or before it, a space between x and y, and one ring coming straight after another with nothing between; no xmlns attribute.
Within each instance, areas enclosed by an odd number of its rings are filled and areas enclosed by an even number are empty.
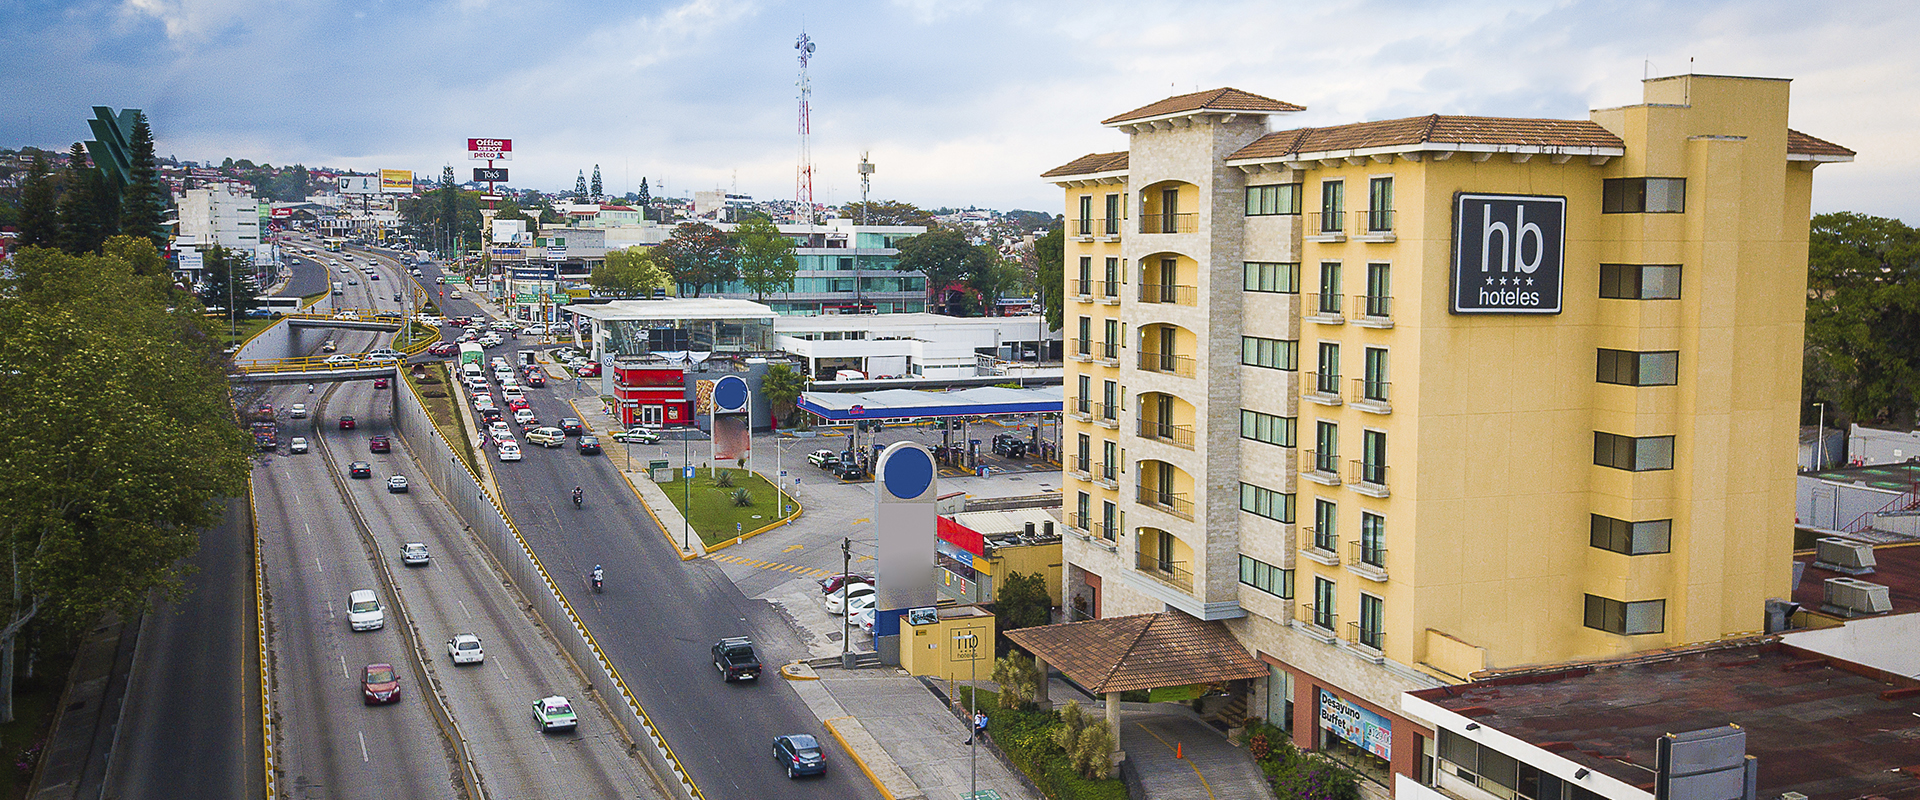
<svg viewBox="0 0 1920 800"><path fill-rule="evenodd" d="M1181 612L1021 627L1006 637L1094 694L1267 675L1225 624Z"/></svg>

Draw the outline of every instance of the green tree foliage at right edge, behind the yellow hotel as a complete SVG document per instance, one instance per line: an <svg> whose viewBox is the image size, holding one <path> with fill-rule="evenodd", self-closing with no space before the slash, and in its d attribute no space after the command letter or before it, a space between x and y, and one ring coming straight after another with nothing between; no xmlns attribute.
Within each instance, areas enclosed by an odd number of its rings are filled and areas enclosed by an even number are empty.
<svg viewBox="0 0 1920 800"><path fill-rule="evenodd" d="M1841 211L1812 219L1803 414L1912 430L1920 409L1920 230Z"/></svg>

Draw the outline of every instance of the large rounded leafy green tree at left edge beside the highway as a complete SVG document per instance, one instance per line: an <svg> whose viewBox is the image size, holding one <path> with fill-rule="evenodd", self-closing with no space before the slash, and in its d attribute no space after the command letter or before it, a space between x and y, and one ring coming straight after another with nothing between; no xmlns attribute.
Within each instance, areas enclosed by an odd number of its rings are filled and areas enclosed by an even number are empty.
<svg viewBox="0 0 1920 800"><path fill-rule="evenodd" d="M106 249L157 259L134 238ZM152 589L179 591L179 560L219 522L217 501L246 491L252 466L230 365L198 303L177 303L115 255L33 247L15 263L0 272L0 407L15 422L0 430L12 564L0 696L27 620L77 629L144 606Z"/></svg>

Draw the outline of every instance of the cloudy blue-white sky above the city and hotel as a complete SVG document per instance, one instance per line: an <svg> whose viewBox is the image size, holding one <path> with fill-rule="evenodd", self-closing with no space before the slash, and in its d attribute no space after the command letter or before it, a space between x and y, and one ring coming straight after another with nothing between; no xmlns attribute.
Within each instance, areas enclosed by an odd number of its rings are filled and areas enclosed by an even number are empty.
<svg viewBox="0 0 1920 800"><path fill-rule="evenodd" d="M1791 125L1857 150L1816 211L1920 223L1908 2L0 0L0 146L142 107L159 152L461 176L513 138L515 186L791 198L793 40L812 59L816 200L1058 211L1037 175L1121 150L1100 119L1235 86L1336 125L1584 119L1686 71L1793 79Z"/></svg>

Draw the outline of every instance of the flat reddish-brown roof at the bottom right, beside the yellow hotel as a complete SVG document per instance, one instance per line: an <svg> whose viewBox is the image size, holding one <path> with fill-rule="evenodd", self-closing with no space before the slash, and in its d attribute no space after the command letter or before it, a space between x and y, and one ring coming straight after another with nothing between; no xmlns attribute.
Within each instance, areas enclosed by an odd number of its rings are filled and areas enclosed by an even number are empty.
<svg viewBox="0 0 1920 800"><path fill-rule="evenodd" d="M1872 677L1870 677L1872 675ZM1759 794L1920 798L1920 685L1780 643L1519 673L1413 696L1651 790L1655 739L1747 731Z"/></svg>

